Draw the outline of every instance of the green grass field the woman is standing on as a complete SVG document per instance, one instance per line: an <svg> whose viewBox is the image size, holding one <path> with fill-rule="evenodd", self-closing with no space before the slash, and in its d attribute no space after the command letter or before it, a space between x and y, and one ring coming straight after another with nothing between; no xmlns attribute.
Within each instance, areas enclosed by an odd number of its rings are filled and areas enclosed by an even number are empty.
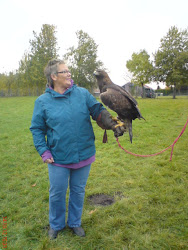
<svg viewBox="0 0 188 250"><path fill-rule="evenodd" d="M170 149L149 158L126 154L111 131L108 144L102 144L103 131L93 121L97 154L82 216L86 237L66 229L56 240L48 240L48 171L29 131L35 99L0 99L0 249L5 216L11 250L188 249L188 127L170 162ZM137 154L159 152L173 143L186 123L188 99L138 102L146 121L133 121L132 145L127 133L119 141ZM102 193L115 196L115 203L91 205L88 197Z"/></svg>

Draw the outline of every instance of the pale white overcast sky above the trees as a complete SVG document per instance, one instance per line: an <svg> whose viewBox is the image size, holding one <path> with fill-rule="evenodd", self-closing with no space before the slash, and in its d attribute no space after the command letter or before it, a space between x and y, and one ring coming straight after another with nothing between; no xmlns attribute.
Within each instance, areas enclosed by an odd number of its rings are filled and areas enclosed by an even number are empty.
<svg viewBox="0 0 188 250"><path fill-rule="evenodd" d="M126 62L134 52L145 49L152 57L170 27L188 28L187 0L0 0L0 10L0 73L18 69L33 31L53 24L60 58L77 45L76 32L83 30L120 86L130 81Z"/></svg>

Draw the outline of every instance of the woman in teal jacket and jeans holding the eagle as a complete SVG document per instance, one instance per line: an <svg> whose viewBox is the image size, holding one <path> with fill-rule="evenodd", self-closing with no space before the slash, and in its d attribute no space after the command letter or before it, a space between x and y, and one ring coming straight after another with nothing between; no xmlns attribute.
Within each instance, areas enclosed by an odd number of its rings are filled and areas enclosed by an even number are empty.
<svg viewBox="0 0 188 250"><path fill-rule="evenodd" d="M108 111L84 88L77 87L61 60L49 61L45 68L48 87L35 101L30 130L34 145L48 164L49 237L55 239L66 227L66 193L69 185L67 224L81 237L85 186L95 160L94 133L90 116L99 126L112 129L115 136L124 131ZM47 138L47 139L46 139Z"/></svg>

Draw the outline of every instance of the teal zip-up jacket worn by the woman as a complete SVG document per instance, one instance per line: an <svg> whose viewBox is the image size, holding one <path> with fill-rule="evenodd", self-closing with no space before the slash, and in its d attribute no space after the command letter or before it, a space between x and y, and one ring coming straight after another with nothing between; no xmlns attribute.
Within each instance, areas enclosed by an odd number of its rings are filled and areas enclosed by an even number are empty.
<svg viewBox="0 0 188 250"><path fill-rule="evenodd" d="M47 88L37 98L30 130L40 155L50 150L55 163L71 164L95 154L90 120L104 109L88 90L73 85L63 95Z"/></svg>

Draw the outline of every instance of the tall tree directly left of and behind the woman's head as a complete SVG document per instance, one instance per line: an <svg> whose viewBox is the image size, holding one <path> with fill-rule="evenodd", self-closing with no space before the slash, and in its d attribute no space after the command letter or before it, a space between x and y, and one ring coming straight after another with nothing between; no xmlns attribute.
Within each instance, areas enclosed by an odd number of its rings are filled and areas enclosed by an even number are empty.
<svg viewBox="0 0 188 250"><path fill-rule="evenodd" d="M45 87L44 68L48 61L58 56L57 38L54 25L43 24L39 35L33 31L34 39L30 40L30 51L25 53L20 61L19 79L31 90L39 95Z"/></svg>

